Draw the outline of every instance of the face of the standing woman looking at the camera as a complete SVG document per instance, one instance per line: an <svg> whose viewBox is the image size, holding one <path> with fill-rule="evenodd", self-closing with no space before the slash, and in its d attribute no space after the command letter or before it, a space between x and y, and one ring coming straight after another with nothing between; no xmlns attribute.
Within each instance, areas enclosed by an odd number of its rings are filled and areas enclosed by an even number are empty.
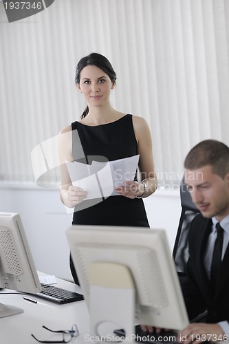
<svg viewBox="0 0 229 344"><path fill-rule="evenodd" d="M109 102L111 89L115 84L102 69L88 65L81 70L80 83L77 86L89 107L100 107Z"/></svg>

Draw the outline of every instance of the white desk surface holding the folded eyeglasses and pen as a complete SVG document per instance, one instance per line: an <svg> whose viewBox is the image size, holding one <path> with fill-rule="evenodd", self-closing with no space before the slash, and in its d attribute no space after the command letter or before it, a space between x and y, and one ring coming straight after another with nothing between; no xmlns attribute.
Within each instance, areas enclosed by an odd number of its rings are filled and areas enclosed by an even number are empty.
<svg viewBox="0 0 229 344"><path fill-rule="evenodd" d="M56 281L55 286L82 293L80 287L74 283L62 279L56 279ZM39 343L32 338L31 334L34 334L40 341L51 341L56 338L61 340L61 334L52 334L52 332L45 330L42 325L51 330L70 330L74 324L77 325L80 334L77 338L72 338L70 343L85 343L85 335L89 334L89 314L85 301L57 305L40 297L29 295L30 299L37 301L37 303L32 303L25 301L24 296L21 294L0 294L1 303L15 305L24 310L23 313L0 319L1 344Z"/></svg>

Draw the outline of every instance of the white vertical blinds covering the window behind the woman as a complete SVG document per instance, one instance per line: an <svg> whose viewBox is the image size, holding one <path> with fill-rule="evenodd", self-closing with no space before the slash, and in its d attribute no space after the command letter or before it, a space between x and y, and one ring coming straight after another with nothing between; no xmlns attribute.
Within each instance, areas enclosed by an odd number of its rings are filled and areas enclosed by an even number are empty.
<svg viewBox="0 0 229 344"><path fill-rule="evenodd" d="M160 186L206 138L229 144L228 0L55 0L8 23L0 2L0 181L33 182L31 151L78 120L78 60L104 54L113 107L151 128Z"/></svg>

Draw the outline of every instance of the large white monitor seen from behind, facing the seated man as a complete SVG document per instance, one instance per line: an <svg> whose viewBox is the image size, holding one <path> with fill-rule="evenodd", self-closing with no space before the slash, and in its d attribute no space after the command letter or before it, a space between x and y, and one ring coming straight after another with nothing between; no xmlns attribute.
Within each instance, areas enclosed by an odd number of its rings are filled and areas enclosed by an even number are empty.
<svg viewBox="0 0 229 344"><path fill-rule="evenodd" d="M92 317L97 316L95 314L100 309L109 308L108 315L102 316L103 319L107 317L111 320L110 314L114 314L117 308L120 314L116 318L122 321L131 308L130 304L125 305L126 296L116 298L114 290L117 290L119 282L122 285L127 276L123 277L121 270L113 270L114 264L126 268L133 280L135 325L153 325L173 330L181 330L188 325L182 291L164 230L73 225L67 229L66 234L90 316L92 313ZM103 267L100 269L97 265ZM122 290L124 288L121 286ZM95 290L98 292L96 304L95 297L91 297L92 291L96 295ZM111 291L109 296L106 290ZM102 316L98 319L100 323ZM118 325L124 327L122 323ZM93 333L96 331L91 329Z"/></svg>

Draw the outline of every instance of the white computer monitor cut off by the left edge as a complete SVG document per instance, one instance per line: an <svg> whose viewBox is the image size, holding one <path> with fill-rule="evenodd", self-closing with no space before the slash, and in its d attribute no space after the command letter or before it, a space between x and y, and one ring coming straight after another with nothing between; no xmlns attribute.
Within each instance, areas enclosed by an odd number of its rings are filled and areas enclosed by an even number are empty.
<svg viewBox="0 0 229 344"><path fill-rule="evenodd" d="M26 293L41 291L41 283L18 213L0 213L0 288ZM3 293L0 297L3 300ZM0 303L0 318L21 312L21 308Z"/></svg>

